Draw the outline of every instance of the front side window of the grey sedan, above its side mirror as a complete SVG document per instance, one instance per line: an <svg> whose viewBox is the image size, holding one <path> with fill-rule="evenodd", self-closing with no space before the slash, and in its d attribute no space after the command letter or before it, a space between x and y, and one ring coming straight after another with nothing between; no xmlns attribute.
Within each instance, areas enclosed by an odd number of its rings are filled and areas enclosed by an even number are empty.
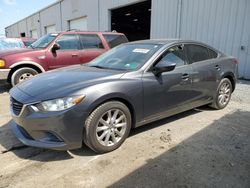
<svg viewBox="0 0 250 188"><path fill-rule="evenodd" d="M176 63L176 66L185 65L186 57L181 46L174 46L167 50L167 52L160 59L159 63L170 65Z"/></svg>

